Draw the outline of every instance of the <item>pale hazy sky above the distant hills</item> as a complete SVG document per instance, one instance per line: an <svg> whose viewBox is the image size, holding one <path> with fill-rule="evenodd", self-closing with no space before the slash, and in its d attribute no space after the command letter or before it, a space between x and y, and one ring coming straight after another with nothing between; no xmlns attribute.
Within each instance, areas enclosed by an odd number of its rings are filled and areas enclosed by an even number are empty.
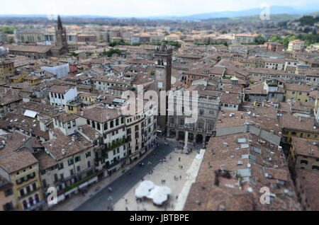
<svg viewBox="0 0 319 225"><path fill-rule="evenodd" d="M298 6L318 0L1 0L0 14L96 15L117 17L189 16L270 6Z"/></svg>

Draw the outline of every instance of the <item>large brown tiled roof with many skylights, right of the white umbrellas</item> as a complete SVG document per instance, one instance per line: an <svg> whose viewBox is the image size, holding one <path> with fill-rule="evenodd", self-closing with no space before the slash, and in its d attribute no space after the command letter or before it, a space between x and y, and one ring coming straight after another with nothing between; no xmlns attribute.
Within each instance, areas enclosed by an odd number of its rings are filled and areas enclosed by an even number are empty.
<svg viewBox="0 0 319 225"><path fill-rule="evenodd" d="M269 160L272 158L272 160ZM260 188L273 194L259 202ZM184 210L300 210L278 146L254 134L212 137Z"/></svg>

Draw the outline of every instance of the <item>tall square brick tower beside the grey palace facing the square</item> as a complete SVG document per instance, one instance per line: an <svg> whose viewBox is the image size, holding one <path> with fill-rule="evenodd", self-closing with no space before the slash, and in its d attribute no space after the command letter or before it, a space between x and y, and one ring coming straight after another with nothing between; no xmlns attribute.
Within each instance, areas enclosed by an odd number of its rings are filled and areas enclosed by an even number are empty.
<svg viewBox="0 0 319 225"><path fill-rule="evenodd" d="M155 81L157 81L157 90L170 91L172 83L172 47L165 44L157 46L155 49ZM159 99L160 100L160 99ZM160 103L160 101L159 101ZM166 97L166 115L160 115L160 104L158 105L159 116L157 125L162 132L166 132L168 118L168 96Z"/></svg>

